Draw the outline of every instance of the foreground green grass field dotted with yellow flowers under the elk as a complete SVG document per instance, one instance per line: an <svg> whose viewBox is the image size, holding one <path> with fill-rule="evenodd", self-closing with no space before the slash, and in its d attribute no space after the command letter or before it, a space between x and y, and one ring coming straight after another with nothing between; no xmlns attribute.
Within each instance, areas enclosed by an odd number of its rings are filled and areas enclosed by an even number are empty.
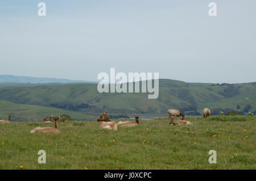
<svg viewBox="0 0 256 181"><path fill-rule="evenodd" d="M59 123L61 134L31 134L46 123L0 124L0 169L256 169L255 116L168 119L100 130L96 121ZM46 151L46 164L38 151ZM209 150L217 163L208 162Z"/></svg>

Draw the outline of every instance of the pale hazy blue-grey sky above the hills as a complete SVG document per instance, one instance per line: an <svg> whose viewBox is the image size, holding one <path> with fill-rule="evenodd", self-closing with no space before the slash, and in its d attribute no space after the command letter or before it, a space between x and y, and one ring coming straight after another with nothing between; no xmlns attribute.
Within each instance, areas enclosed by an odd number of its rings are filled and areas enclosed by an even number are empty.
<svg viewBox="0 0 256 181"><path fill-rule="evenodd" d="M0 1L0 74L96 81L115 68L186 82L254 82L255 7L255 0Z"/></svg>

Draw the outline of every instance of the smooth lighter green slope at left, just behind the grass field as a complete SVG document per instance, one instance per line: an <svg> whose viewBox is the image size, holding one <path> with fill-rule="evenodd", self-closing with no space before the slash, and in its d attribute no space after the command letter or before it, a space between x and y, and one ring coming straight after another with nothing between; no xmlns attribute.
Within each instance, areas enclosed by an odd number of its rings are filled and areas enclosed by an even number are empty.
<svg viewBox="0 0 256 181"><path fill-rule="evenodd" d="M0 100L0 119L7 119L9 114L13 117L13 121L32 121L44 119L50 115L67 114L77 120L95 120L96 116L87 115L81 112L61 110L58 108L32 106L26 104L15 104Z"/></svg>

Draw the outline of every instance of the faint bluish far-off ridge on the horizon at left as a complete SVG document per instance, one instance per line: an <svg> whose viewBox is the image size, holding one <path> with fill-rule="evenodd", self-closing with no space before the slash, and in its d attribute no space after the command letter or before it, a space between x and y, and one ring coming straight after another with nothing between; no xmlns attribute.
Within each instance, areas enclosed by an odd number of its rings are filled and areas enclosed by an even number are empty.
<svg viewBox="0 0 256 181"><path fill-rule="evenodd" d="M72 81L69 79L0 75L0 83L6 83L6 82L9 82L9 83L10 82L16 82L16 83L68 83L68 82L96 83L96 82L92 82L92 81Z"/></svg>

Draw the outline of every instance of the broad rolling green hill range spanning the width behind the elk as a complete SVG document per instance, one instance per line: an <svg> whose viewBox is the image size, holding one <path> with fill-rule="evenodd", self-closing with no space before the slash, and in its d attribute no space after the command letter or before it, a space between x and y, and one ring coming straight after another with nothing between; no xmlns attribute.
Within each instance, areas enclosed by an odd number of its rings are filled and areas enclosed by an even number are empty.
<svg viewBox="0 0 256 181"><path fill-rule="evenodd" d="M1 85L1 84L0 84ZM148 93L104 93L94 83L1 87L0 100L64 108L87 113L167 113L169 108L187 113L203 113L203 108L229 108L242 111L250 104L256 110L256 83L213 84L188 83L159 79L159 98L148 99ZM239 105L239 109L237 108Z"/></svg>

